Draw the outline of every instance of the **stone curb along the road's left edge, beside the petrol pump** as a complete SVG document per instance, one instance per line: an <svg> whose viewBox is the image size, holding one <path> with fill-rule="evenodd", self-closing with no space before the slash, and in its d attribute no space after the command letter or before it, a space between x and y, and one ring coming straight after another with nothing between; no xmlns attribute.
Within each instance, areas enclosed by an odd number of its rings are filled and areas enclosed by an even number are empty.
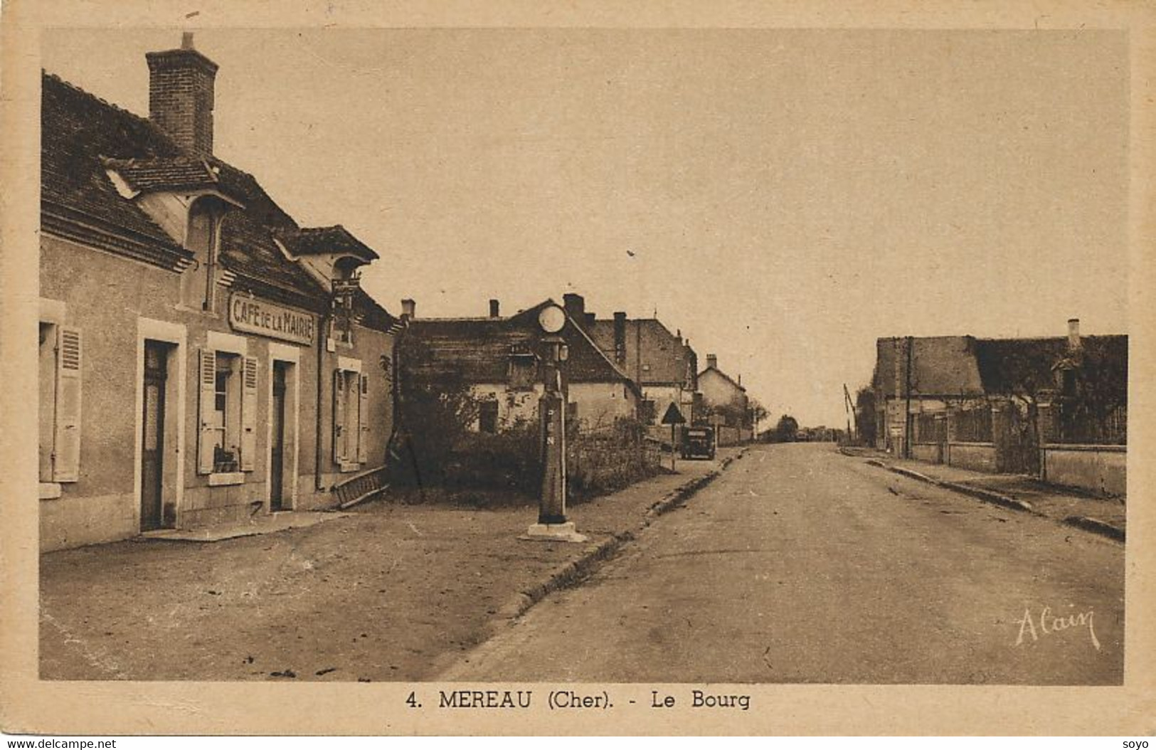
<svg viewBox="0 0 1156 750"><path fill-rule="evenodd" d="M747 450L743 448L735 455L724 459L719 465L719 468L713 469L703 476L695 477L686 484L667 492L662 499L646 511L642 527L650 526L654 518L686 503L696 492L718 478L726 467L728 467L736 459L742 458L742 454L746 452ZM580 584L591 573L593 573L599 565L617 555L627 542L631 542L633 540L635 535L632 532L618 532L609 539L588 547L579 557L555 567L541 584L531 586L526 591L518 592L517 595L510 599L495 612L495 619L492 619L487 628L487 630L490 631L487 634L487 638L496 631L502 621L511 621L521 617L529 610L531 607L542 601L551 593L563 588L571 588Z"/></svg>

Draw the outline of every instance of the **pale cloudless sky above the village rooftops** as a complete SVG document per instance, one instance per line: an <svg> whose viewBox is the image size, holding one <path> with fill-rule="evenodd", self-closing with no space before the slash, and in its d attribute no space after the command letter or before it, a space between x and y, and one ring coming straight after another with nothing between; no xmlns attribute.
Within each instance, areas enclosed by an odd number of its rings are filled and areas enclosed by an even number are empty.
<svg viewBox="0 0 1156 750"><path fill-rule="evenodd" d="M53 31L148 113L179 30ZM658 310L773 417L843 424L879 336L1125 333L1113 31L206 30L216 154L418 315Z"/></svg>

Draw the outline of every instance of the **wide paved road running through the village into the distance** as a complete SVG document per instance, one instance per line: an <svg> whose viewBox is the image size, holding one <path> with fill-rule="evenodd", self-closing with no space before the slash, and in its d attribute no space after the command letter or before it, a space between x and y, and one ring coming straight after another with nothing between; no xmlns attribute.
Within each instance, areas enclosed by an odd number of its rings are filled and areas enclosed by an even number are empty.
<svg viewBox="0 0 1156 750"><path fill-rule="evenodd" d="M1116 542L761 446L442 677L1119 684L1122 623Z"/></svg>

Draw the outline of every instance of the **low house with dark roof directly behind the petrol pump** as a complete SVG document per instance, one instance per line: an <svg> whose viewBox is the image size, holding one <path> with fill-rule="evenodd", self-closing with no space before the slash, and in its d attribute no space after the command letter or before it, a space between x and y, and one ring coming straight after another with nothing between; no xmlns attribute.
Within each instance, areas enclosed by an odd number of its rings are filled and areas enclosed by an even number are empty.
<svg viewBox="0 0 1156 750"><path fill-rule="evenodd" d="M519 421L538 419L543 356L538 315L543 300L514 315L499 315L497 300L486 318L412 317L405 334L402 377L417 381L461 383L479 400L474 429L499 432ZM409 309L413 312L413 309ZM568 315L560 334L569 350L563 366L568 415L585 430L635 418L642 392Z"/></svg>

